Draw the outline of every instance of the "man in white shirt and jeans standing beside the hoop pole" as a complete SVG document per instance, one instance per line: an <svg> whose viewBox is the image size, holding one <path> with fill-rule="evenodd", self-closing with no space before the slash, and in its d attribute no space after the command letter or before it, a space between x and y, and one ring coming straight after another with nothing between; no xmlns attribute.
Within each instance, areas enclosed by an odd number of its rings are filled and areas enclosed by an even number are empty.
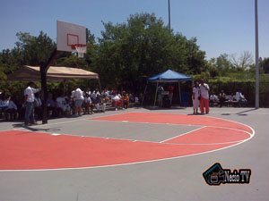
<svg viewBox="0 0 269 201"><path fill-rule="evenodd" d="M39 92L39 88L34 88L34 83L30 81L27 85L28 87L24 90L24 104L25 104L25 117L24 124L25 126L37 125L34 117L34 101L35 93Z"/></svg>

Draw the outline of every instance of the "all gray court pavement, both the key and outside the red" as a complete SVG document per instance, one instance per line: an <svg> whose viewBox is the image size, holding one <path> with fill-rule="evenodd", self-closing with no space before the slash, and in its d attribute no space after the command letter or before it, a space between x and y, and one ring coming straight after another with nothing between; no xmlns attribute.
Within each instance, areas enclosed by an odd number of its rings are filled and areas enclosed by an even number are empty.
<svg viewBox="0 0 269 201"><path fill-rule="evenodd" d="M49 120L46 125L30 129L23 128L22 122L0 122L0 130L160 142L197 128L87 120L130 112L191 114L193 110L132 108ZM208 116L247 124L255 130L255 137L220 151L158 162L82 170L0 172L0 201L268 200L269 109L211 108ZM208 186L202 174L216 162L225 169L251 169L250 184Z"/></svg>

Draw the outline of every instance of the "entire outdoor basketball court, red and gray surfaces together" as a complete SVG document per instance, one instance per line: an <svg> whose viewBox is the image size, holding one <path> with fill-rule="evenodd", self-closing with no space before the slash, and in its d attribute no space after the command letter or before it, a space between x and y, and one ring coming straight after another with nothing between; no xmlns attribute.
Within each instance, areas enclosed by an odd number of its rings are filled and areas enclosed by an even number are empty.
<svg viewBox="0 0 269 201"><path fill-rule="evenodd" d="M133 108L34 127L1 122L0 200L265 200L268 109L191 113ZM202 174L216 162L250 168L250 184L208 186Z"/></svg>

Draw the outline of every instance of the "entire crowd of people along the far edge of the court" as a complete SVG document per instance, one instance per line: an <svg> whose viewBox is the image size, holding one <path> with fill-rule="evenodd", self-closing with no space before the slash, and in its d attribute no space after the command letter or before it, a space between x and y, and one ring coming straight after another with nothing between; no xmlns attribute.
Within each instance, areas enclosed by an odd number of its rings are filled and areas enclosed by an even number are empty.
<svg viewBox="0 0 269 201"><path fill-rule="evenodd" d="M168 103L171 105L173 98L173 86L168 87ZM224 90L221 90L219 96L212 94L209 96L209 86L201 80L195 82L195 86L192 90L192 101L194 114L198 113L198 108L200 112L209 113L210 103L217 103L224 105L225 103L239 103L239 105L247 105L247 99L242 95L241 91L238 89L236 94L231 94L227 96ZM158 102L160 106L163 106L163 87L159 86L157 89ZM139 105L138 96L133 94L128 94L126 91L118 92L115 89L104 88L100 92L98 88L92 90L90 88L85 88L83 91L81 88L76 86L74 90L69 94L61 93L59 96L54 97L52 93L48 93L47 107L48 114L52 117L69 116L74 117L81 116L82 114L93 114L95 113L105 113L106 105L111 105L115 110L127 109L130 102L134 105ZM36 118L42 117L42 101L40 97L39 88L35 88L33 82L29 82L27 88L24 90L24 99L21 102L13 100L12 96L4 96L0 94L0 109L4 111L4 119L13 121L15 119L23 119L25 125L36 124ZM0 113L3 115L3 113Z"/></svg>

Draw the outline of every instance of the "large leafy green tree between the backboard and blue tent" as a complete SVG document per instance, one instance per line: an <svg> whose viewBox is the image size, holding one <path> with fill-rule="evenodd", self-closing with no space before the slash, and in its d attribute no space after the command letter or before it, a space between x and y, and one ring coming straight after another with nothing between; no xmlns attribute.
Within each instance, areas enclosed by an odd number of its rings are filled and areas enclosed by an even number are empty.
<svg viewBox="0 0 269 201"><path fill-rule="evenodd" d="M94 70L106 85L135 90L143 76L168 69L187 74L206 69L196 38L170 32L154 14L134 14L127 22L103 25Z"/></svg>

